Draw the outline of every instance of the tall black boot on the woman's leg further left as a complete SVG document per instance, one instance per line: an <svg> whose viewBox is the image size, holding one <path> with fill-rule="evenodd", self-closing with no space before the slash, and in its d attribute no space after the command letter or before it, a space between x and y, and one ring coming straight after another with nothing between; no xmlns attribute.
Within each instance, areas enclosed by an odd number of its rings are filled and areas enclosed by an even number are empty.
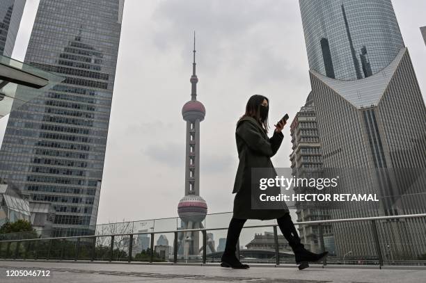
<svg viewBox="0 0 426 283"><path fill-rule="evenodd" d="M239 262L239 259L237 259L237 256L235 255L239 234L241 233L244 223L246 223L246 219L232 218L230 220L228 234L226 235L225 250L223 251L223 255L221 258L222 267L242 269L250 267L248 266L248 264L242 264L241 262Z"/></svg>

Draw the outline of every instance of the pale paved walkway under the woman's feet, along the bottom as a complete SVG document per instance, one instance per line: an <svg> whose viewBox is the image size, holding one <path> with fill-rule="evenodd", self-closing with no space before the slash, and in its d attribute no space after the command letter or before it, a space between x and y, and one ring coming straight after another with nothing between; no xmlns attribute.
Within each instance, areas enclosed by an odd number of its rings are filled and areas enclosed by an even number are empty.
<svg viewBox="0 0 426 283"><path fill-rule="evenodd" d="M287 266L288 267L288 266ZM7 270L50 270L49 277L7 277ZM296 266L258 267L232 270L220 266L159 264L74 263L43 261L0 261L0 282L426 282L426 269L321 268L298 270Z"/></svg>

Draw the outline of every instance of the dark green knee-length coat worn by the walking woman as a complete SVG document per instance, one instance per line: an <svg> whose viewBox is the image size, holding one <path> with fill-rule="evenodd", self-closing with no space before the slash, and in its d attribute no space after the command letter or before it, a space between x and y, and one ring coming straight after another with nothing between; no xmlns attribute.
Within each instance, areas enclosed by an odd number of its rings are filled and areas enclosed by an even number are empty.
<svg viewBox="0 0 426 283"><path fill-rule="evenodd" d="M236 193L233 217L267 220L279 218L288 213L285 202L274 204L274 209L251 208L251 168L269 168L269 175L265 177L274 178L277 174L274 165L272 165L271 156L276 154L283 138L283 133L276 131L271 138L268 138L254 118L245 117L237 122L235 140L239 164L232 191L232 193Z"/></svg>

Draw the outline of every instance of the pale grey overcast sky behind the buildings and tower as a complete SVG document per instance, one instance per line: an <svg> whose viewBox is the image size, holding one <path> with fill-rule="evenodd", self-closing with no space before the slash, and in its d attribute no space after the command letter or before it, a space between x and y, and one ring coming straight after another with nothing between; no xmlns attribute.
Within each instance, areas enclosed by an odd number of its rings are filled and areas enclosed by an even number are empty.
<svg viewBox="0 0 426 283"><path fill-rule="evenodd" d="M426 1L393 0L423 97ZM13 57L24 60L38 0L27 0ZM184 195L185 122L196 30L200 195L209 213L232 211L235 122L248 97L270 99L274 122L290 120L310 90L297 0L126 0L97 223L177 216ZM273 126L271 124L271 126ZM4 131L6 118L0 122ZM290 130L274 156L289 167Z"/></svg>

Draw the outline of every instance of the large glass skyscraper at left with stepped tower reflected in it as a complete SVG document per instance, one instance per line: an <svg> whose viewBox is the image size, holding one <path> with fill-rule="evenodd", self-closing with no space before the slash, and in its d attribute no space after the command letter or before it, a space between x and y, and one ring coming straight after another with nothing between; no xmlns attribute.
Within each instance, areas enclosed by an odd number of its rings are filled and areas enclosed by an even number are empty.
<svg viewBox="0 0 426 283"><path fill-rule="evenodd" d="M96 223L123 6L40 0L24 62L64 80L10 113L0 177L52 203L52 236Z"/></svg>

